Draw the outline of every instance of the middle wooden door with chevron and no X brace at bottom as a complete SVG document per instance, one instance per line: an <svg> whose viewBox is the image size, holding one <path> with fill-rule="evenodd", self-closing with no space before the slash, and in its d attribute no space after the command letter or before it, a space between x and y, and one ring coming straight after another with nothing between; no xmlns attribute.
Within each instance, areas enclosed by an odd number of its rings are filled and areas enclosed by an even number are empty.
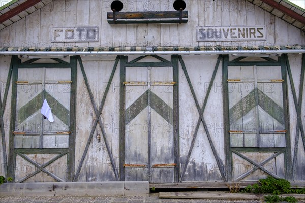
<svg viewBox="0 0 305 203"><path fill-rule="evenodd" d="M174 182L173 68L126 68L125 180Z"/></svg>

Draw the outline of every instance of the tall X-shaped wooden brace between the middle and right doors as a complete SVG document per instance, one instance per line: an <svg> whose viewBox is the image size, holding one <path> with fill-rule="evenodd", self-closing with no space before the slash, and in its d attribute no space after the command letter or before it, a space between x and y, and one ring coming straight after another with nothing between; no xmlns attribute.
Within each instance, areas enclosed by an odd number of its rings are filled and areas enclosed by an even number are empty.
<svg viewBox="0 0 305 203"><path fill-rule="evenodd" d="M192 83L191 83L189 74L188 74L188 72L187 72L185 63L184 63L182 57L179 56L180 64L181 64L181 66L182 66L182 69L183 69L184 74L185 74L185 76L186 76L186 79L187 79L187 81L188 81L189 87L190 87L190 89L191 89L191 93L192 93L192 95L193 95L193 98L194 98L194 100L195 100L195 104L196 104L196 107L197 107L197 110L198 110L198 113L199 113L199 118L198 118L198 121L197 121L197 125L196 125L196 128L195 128L195 132L194 132L193 138L192 138L190 150L189 150L188 155L187 155L186 163L185 163L185 165L184 165L184 167L183 167L183 170L182 170L182 174L181 174L181 177L180 177L180 182L182 182L183 177L184 177L184 175L185 175L185 173L186 173L186 170L187 170L187 167L188 167L188 163L189 163L189 159L190 159L190 156L191 156L193 147L194 147L195 139L196 139L196 137L197 137L198 129L199 129L199 126L200 126L200 123L201 123L201 122L202 122L202 124L203 124L205 133L206 133L206 135L207 135L209 144L210 144L210 146L211 146L211 149L212 149L212 151L213 151L213 153L214 153L214 156L215 156L215 159L216 159L218 168L219 168L219 170L220 170L221 176L222 176L223 180L226 181L226 174L225 174L225 170L224 170L223 164L222 164L221 159L220 159L220 157L219 157L219 155L218 155L218 153L217 153L217 150L216 150L216 148L215 148L215 145L214 145L214 143L213 143L213 141L212 141L212 139L211 139L209 130L208 130L207 126L206 126L206 122L205 122L204 117L203 117L204 109L205 109L205 107L206 107L207 99L208 99L209 93L210 93L210 91L211 91L212 85L214 84L214 79L215 79L215 76L216 76L216 73L217 73L217 70L218 70L218 66L219 66L219 64L220 64L220 60L221 60L221 56L219 56L218 59L217 59L217 62L216 62L216 65L215 65L215 69L214 69L214 72L213 72L211 81L210 81L210 83L209 83L209 86L208 86L208 89L207 89L207 93L206 93L205 98L204 98L203 106L202 106L202 108L201 108L200 105L199 105L199 103L198 103L198 99L197 99L197 97L196 97L196 94L195 94L193 85L192 85Z"/></svg>

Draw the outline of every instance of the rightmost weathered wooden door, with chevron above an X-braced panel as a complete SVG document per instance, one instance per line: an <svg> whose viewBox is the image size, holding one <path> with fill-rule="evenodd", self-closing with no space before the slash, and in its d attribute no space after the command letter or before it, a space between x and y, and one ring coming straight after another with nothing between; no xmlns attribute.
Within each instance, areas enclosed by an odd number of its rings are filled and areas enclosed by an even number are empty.
<svg viewBox="0 0 305 203"><path fill-rule="evenodd" d="M279 66L229 66L233 179L285 178L286 129Z"/></svg>

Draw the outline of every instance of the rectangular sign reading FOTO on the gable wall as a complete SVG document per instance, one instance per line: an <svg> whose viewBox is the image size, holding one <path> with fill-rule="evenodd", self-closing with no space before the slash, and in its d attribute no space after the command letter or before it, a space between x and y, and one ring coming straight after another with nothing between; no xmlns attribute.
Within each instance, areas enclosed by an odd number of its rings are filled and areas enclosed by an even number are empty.
<svg viewBox="0 0 305 203"><path fill-rule="evenodd" d="M99 27L52 27L51 42L98 42Z"/></svg>

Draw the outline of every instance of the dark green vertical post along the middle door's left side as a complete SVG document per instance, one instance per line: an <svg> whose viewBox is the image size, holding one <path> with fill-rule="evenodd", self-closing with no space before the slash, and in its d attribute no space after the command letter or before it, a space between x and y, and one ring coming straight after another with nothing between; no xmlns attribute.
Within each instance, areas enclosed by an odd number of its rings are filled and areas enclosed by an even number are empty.
<svg viewBox="0 0 305 203"><path fill-rule="evenodd" d="M125 181L124 163L125 163L125 86L126 79L126 63L127 56L120 58L120 72L119 72L119 171L120 180Z"/></svg>

